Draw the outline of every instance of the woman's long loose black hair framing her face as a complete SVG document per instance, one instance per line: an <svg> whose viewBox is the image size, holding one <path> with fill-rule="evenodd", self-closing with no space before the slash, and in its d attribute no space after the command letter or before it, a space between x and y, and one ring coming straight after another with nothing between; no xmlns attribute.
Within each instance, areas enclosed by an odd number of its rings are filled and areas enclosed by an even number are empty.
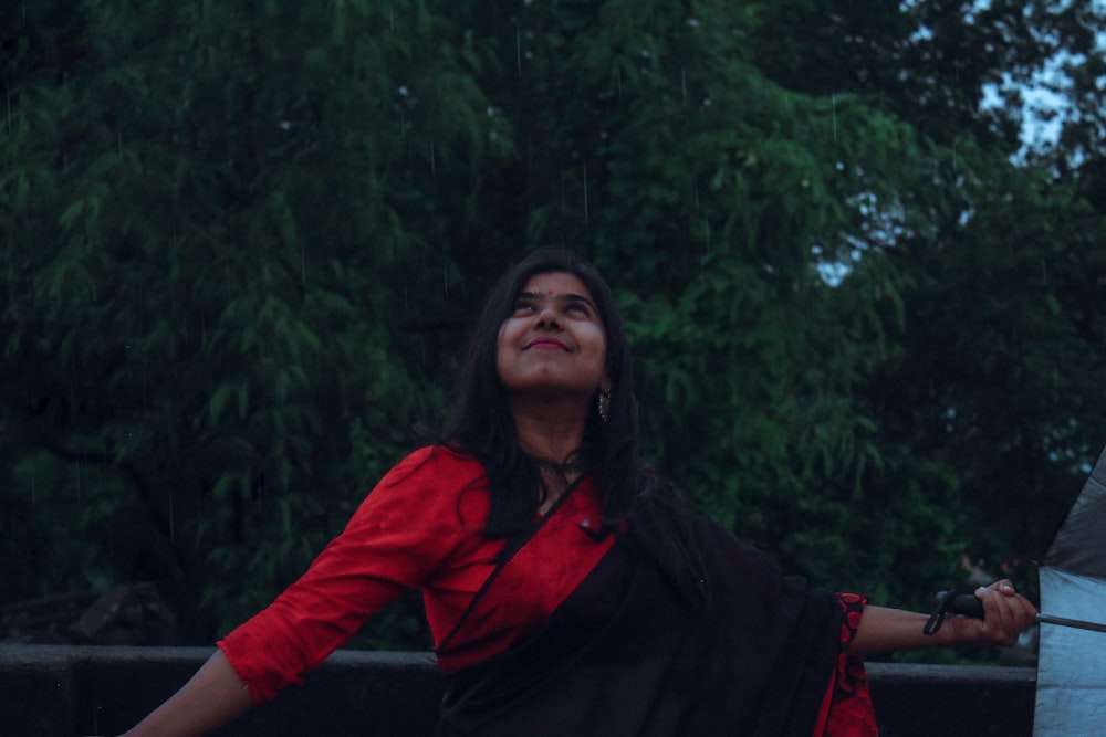
<svg viewBox="0 0 1106 737"><path fill-rule="evenodd" d="M599 483L601 534L620 535L633 548L654 558L681 592L702 596L689 513L671 484L640 459L629 343L611 287L589 263L565 251L540 250L500 277L469 343L457 401L438 442L474 456L483 465L491 491L486 535L511 538L531 528L541 503L536 493L541 474L519 448L497 368L497 346L500 328L526 282L552 272L572 274L583 282L606 333L609 410L604 421L597 402L593 402L584 444L577 451Z"/></svg>

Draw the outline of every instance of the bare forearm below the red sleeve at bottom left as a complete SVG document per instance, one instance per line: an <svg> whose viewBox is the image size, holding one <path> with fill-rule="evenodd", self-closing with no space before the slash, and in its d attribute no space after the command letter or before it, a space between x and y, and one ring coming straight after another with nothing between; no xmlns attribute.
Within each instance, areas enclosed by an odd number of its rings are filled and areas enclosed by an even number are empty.
<svg viewBox="0 0 1106 737"><path fill-rule="evenodd" d="M123 737L206 735L250 710L250 691L221 650L167 702Z"/></svg>

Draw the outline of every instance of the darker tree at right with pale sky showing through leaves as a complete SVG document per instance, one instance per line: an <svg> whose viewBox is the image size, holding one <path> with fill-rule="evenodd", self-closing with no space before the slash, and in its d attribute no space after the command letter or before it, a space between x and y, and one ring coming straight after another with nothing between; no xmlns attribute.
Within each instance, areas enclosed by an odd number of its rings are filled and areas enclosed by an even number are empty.
<svg viewBox="0 0 1106 737"><path fill-rule="evenodd" d="M1032 582L1024 564L1043 554L1106 436L1095 388L1102 109L1089 94L1104 63L1103 13L1091 2L969 10L926 0L761 10L750 39L772 78L856 95L935 145L929 180L886 210L895 238L869 242L904 277L904 309L886 324L893 360L863 401L885 461L908 465L865 486L909 491L921 478L909 467L931 468L922 499L956 512L956 548L994 572L1021 561ZM1068 88L1042 76L1054 67ZM1048 78L1070 95L1061 144L1012 166L1024 85ZM982 106L985 85L1004 106Z"/></svg>

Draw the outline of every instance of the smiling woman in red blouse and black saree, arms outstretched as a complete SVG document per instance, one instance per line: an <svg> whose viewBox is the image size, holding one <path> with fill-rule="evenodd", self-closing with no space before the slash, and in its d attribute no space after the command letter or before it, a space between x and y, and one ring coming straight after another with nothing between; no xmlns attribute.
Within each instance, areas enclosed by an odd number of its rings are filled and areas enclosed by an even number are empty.
<svg viewBox="0 0 1106 737"><path fill-rule="evenodd" d="M128 735L204 734L298 683L419 587L441 735L862 735L858 656L1011 645L1035 610L1000 581L983 620L810 589L691 514L638 456L626 336L588 264L538 252L480 318L442 438Z"/></svg>

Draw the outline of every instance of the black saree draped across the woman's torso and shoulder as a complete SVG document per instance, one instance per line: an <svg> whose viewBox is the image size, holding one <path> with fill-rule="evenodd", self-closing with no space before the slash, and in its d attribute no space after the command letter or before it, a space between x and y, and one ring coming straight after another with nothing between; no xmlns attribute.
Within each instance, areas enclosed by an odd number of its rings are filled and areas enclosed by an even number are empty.
<svg viewBox="0 0 1106 737"><path fill-rule="evenodd" d="M695 529L705 606L617 543L534 636L445 675L439 736L808 737L841 649L834 594Z"/></svg>

